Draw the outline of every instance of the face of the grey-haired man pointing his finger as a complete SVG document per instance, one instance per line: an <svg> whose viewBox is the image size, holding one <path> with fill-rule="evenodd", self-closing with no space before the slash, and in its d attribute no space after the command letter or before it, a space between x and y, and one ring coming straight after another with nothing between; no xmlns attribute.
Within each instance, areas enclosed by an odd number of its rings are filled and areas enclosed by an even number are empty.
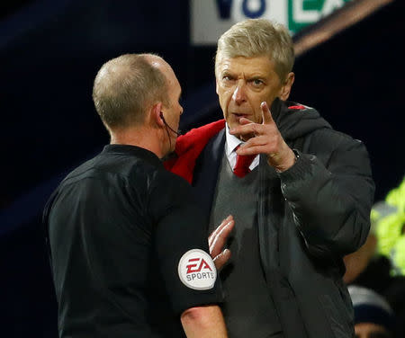
<svg viewBox="0 0 405 338"><path fill-rule="evenodd" d="M220 58L216 76L220 108L229 128L238 126L242 117L261 123L260 103L266 101L270 107L283 89L274 63L266 56Z"/></svg>

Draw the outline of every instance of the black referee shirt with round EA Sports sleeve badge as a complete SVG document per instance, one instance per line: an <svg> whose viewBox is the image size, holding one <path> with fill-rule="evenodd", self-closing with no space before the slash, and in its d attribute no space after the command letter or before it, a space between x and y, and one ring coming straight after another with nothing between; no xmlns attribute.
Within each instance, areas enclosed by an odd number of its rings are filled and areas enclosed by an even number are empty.
<svg viewBox="0 0 405 338"><path fill-rule="evenodd" d="M220 301L191 188L146 149L104 147L44 219L60 337L182 336L186 308Z"/></svg>

